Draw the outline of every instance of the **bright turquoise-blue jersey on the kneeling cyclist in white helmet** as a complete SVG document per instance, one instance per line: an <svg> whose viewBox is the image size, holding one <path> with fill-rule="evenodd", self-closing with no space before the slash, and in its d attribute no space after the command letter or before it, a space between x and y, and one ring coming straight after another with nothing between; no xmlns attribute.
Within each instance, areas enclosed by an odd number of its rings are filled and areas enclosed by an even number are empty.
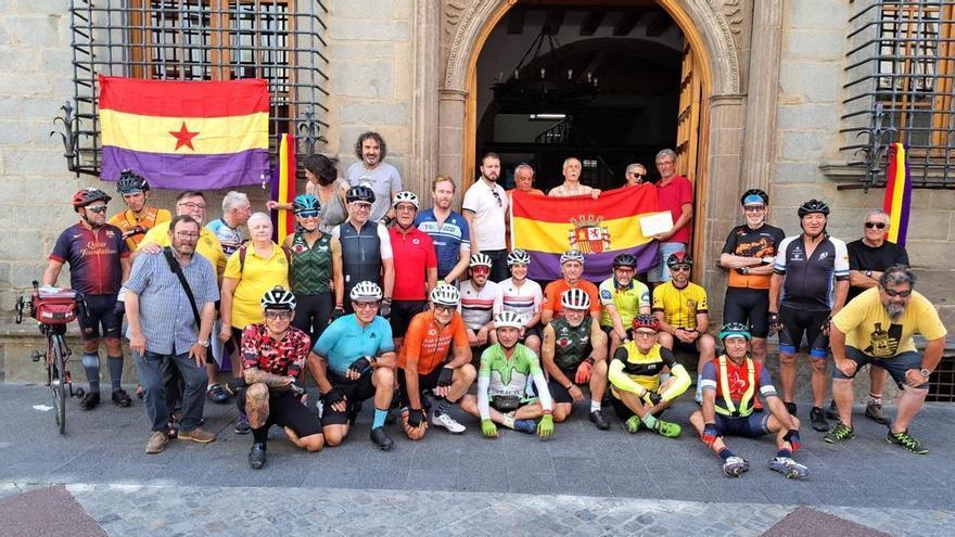
<svg viewBox="0 0 955 537"><path fill-rule="evenodd" d="M374 320L362 328L355 314L335 319L313 348L339 376L345 376L348 366L362 356L379 356L394 350L392 327L384 317L375 316Z"/></svg>

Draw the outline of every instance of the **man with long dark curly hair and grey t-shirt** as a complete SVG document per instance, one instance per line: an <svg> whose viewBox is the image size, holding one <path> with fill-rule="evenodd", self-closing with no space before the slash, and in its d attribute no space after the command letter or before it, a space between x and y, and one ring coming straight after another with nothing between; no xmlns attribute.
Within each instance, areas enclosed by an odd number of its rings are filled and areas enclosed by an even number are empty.
<svg viewBox="0 0 955 537"><path fill-rule="evenodd" d="M368 219L390 225L395 219L392 200L402 191L402 176L384 162L387 145L378 132L364 132L355 142L355 155L359 162L348 166L345 180L351 187L368 187L374 192L374 203Z"/></svg>

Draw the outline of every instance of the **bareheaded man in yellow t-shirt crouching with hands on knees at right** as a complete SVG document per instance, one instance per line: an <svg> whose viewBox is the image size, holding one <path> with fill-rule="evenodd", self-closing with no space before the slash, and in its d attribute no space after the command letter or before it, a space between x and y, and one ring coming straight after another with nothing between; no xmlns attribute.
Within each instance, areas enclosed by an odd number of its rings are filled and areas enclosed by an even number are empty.
<svg viewBox="0 0 955 537"><path fill-rule="evenodd" d="M829 344L836 367L832 369L832 396L840 423L825 440L837 444L855 436L852 429L852 380L862 366L877 363L904 387L899 411L886 438L905 449L926 455L926 446L908 434L908 424L921 410L928 394L929 376L939 366L945 349L945 330L934 306L915 292L915 274L908 267L895 265L871 287L850 302L832 318ZM912 336L926 338L919 355Z"/></svg>

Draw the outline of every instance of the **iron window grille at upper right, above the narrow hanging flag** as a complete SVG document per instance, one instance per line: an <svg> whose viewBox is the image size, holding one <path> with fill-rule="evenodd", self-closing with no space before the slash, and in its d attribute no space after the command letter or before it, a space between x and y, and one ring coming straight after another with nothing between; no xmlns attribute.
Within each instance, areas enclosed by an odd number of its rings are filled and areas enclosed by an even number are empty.
<svg viewBox="0 0 955 537"><path fill-rule="evenodd" d="M841 151L886 182L889 144L908 148L915 188L955 188L955 0L856 1Z"/></svg>

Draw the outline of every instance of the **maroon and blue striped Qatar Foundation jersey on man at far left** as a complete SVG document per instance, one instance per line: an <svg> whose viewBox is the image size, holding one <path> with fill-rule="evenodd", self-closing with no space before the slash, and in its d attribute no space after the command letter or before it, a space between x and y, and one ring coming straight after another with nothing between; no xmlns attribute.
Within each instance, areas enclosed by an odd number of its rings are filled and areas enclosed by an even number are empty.
<svg viewBox="0 0 955 537"><path fill-rule="evenodd" d="M85 295L119 293L119 259L127 257L129 250L123 232L109 223L90 229L76 222L60 233L50 253L50 259L69 264L69 286Z"/></svg>

